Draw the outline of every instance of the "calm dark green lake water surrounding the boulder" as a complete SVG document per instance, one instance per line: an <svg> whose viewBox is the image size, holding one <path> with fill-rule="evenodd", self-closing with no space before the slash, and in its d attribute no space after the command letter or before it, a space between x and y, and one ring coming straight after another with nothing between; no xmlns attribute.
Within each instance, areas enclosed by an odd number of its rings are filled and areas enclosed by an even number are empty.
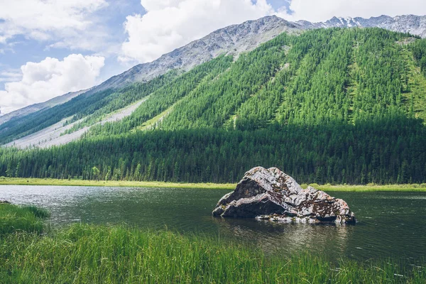
<svg viewBox="0 0 426 284"><path fill-rule="evenodd" d="M355 226L277 224L212 217L230 190L124 187L0 186L0 199L49 209L49 222L129 224L243 241L266 253L312 251L332 258L426 256L426 192L329 192L348 202Z"/></svg>

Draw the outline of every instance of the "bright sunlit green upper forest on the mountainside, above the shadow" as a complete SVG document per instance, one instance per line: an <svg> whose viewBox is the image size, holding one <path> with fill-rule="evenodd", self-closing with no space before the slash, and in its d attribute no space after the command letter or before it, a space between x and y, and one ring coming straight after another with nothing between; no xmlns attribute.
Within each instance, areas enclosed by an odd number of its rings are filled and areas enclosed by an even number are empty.
<svg viewBox="0 0 426 284"><path fill-rule="evenodd" d="M89 135L136 130L173 104L158 129L255 130L423 118L425 41L406 44L410 40L415 39L376 28L283 33L242 55L214 80L179 96L169 90L163 97L156 94L128 118ZM187 80L170 84L175 90L182 86Z"/></svg>

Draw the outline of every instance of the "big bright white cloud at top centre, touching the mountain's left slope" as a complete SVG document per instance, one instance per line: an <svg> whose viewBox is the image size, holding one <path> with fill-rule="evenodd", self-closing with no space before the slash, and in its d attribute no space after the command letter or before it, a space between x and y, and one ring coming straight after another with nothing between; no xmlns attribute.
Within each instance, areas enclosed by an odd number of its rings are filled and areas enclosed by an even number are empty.
<svg viewBox="0 0 426 284"><path fill-rule="evenodd" d="M141 0L146 14L127 16L122 61L148 62L235 23L271 15L266 0Z"/></svg>

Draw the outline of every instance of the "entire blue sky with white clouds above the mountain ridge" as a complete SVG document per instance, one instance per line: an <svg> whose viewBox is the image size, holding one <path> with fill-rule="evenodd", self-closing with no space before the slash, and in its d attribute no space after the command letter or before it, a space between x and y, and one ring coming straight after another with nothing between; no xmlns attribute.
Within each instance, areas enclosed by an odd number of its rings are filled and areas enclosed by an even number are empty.
<svg viewBox="0 0 426 284"><path fill-rule="evenodd" d="M0 115L93 87L231 24L383 14L426 15L426 2L0 0Z"/></svg>

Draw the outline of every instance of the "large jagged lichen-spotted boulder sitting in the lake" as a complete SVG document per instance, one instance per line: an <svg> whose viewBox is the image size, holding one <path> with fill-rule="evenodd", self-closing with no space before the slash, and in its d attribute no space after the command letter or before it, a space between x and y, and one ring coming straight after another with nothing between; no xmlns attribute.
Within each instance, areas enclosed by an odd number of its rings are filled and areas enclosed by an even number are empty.
<svg viewBox="0 0 426 284"><path fill-rule="evenodd" d="M314 187L304 190L278 168L262 167L249 170L234 192L219 200L213 215L286 223L356 222L354 213L344 200Z"/></svg>

